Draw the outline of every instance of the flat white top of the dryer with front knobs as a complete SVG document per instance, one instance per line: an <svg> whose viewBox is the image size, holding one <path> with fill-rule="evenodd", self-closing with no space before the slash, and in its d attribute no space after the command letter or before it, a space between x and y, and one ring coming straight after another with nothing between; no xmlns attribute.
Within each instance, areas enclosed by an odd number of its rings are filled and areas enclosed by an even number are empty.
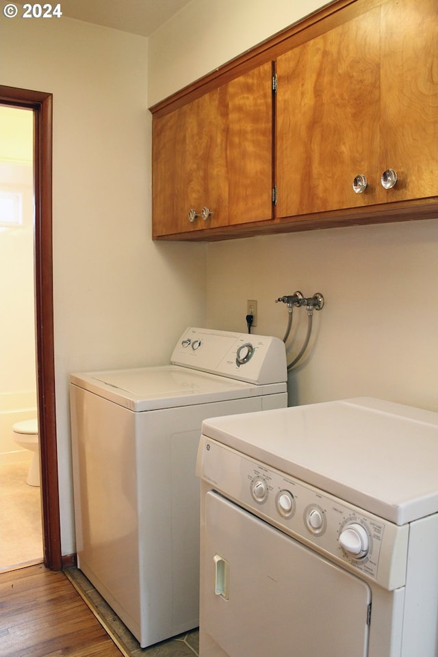
<svg viewBox="0 0 438 657"><path fill-rule="evenodd" d="M215 417L202 430L398 525L438 513L438 413L359 398Z"/></svg>

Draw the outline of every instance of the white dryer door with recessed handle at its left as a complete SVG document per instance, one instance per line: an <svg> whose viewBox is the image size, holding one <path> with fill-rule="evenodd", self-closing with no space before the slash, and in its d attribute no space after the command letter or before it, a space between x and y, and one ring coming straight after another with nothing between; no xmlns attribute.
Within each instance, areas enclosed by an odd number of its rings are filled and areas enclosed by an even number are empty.
<svg viewBox="0 0 438 657"><path fill-rule="evenodd" d="M213 491L203 508L201 654L368 655L368 584Z"/></svg>

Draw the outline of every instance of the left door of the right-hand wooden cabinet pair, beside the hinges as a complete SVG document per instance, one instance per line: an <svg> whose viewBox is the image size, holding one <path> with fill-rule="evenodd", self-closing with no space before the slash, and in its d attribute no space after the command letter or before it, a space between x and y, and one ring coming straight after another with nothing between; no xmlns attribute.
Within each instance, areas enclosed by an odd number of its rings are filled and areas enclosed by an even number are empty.
<svg viewBox="0 0 438 657"><path fill-rule="evenodd" d="M277 216L368 202L352 180L380 148L379 23L372 10L278 57Z"/></svg>

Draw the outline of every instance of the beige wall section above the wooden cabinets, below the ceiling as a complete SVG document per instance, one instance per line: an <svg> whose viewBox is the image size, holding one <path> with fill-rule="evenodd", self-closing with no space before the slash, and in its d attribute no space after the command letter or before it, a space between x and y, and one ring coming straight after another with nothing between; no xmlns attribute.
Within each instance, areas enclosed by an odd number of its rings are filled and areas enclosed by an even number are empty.
<svg viewBox="0 0 438 657"><path fill-rule="evenodd" d="M321 0L192 0L149 39L149 105L324 4Z"/></svg>

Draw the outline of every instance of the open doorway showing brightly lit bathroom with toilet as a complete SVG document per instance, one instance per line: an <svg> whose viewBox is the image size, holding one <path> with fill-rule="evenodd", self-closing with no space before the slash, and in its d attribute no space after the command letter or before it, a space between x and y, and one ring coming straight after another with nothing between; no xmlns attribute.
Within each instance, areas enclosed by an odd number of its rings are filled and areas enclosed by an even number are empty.
<svg viewBox="0 0 438 657"><path fill-rule="evenodd" d="M42 561L33 145L32 110L0 105L0 571Z"/></svg>

